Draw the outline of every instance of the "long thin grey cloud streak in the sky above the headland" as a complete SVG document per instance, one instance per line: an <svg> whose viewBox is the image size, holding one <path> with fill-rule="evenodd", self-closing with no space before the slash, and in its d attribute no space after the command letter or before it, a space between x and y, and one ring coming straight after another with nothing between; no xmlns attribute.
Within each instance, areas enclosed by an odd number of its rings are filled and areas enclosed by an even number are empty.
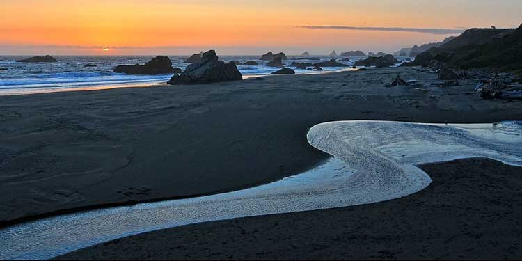
<svg viewBox="0 0 522 261"><path fill-rule="evenodd" d="M359 30L359 31L388 31L388 32L410 32L410 33L433 33L433 34L456 34L463 33L464 29L445 28L404 28L404 27L358 27L358 26L296 26L303 29L318 30Z"/></svg>

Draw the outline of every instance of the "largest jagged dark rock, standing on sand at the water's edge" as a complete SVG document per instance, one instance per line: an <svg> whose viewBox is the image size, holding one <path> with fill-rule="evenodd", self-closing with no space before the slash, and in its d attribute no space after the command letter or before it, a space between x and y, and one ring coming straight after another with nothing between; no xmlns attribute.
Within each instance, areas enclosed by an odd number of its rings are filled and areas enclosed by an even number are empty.
<svg viewBox="0 0 522 261"><path fill-rule="evenodd" d="M205 52L201 61L187 66L181 74L174 74L168 84L207 84L217 81L243 79L235 63L219 61L214 50Z"/></svg>

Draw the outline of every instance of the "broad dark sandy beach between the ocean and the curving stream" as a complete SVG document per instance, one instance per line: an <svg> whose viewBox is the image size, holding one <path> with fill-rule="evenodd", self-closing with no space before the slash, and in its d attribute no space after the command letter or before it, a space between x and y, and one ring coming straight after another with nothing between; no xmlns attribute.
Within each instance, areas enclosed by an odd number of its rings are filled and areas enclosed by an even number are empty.
<svg viewBox="0 0 522 261"><path fill-rule="evenodd" d="M521 102L482 100L474 81L386 88L413 68L0 97L0 222L232 191L310 168L306 141L331 120L521 120Z"/></svg>

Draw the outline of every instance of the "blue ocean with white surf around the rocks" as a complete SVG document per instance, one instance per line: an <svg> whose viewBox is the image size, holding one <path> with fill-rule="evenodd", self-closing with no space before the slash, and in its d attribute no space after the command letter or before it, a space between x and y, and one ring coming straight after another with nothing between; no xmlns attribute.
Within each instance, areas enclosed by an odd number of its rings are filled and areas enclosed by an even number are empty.
<svg viewBox="0 0 522 261"><path fill-rule="evenodd" d="M84 90L89 88L117 88L125 86L150 86L164 84L171 78L172 74L161 75L127 75L114 73L117 65L134 65L146 63L153 56L54 56L58 63L18 63L22 58L31 56L0 56L0 95L15 95L26 93L47 93L61 90ZM184 68L188 63L183 63L187 56L168 56L171 58L173 67ZM260 65L238 65L239 71L244 78L267 75L278 70L267 67L267 61L258 60L260 56L220 56L223 61L257 61ZM329 61L329 56L316 56L321 61ZM284 61L287 65L290 60ZM323 68L322 72L310 70L296 70L296 74L335 72L340 70L354 70L351 65L357 61L340 61L349 65L347 68ZM299 60L302 62L319 62ZM96 67L84 67L86 64ZM292 68L292 67L290 67Z"/></svg>

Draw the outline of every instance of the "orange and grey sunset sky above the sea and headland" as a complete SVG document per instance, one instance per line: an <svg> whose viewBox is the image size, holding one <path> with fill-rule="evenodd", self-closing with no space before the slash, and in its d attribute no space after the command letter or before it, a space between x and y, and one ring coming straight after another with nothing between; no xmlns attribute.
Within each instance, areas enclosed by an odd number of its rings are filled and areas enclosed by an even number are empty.
<svg viewBox="0 0 522 261"><path fill-rule="evenodd" d="M472 27L522 23L521 0L0 0L0 6L3 55L393 52Z"/></svg>

